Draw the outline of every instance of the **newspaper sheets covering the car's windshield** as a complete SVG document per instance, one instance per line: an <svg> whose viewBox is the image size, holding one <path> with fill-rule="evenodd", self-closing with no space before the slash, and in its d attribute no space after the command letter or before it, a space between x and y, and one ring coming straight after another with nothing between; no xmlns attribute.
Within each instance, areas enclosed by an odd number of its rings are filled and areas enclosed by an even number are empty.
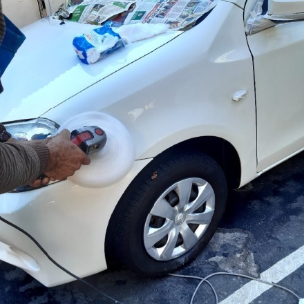
<svg viewBox="0 0 304 304"><path fill-rule="evenodd" d="M178 30L191 26L220 0L66 0L53 14L79 23L103 25L106 21L122 24L166 23Z"/></svg>

